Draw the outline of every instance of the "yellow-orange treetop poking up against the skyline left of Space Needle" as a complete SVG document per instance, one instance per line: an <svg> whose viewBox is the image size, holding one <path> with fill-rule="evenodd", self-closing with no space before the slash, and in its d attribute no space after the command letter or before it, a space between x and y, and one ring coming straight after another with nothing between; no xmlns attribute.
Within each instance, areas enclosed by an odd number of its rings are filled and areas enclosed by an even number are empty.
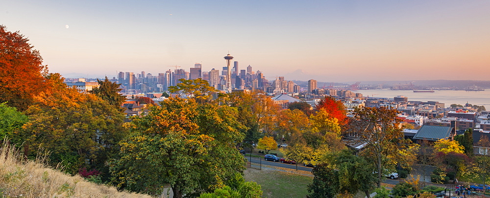
<svg viewBox="0 0 490 198"><path fill-rule="evenodd" d="M177 86L170 86L171 93L177 93L181 98L194 98L197 103L209 102L218 92L209 82L200 78L195 80L179 79Z"/></svg>

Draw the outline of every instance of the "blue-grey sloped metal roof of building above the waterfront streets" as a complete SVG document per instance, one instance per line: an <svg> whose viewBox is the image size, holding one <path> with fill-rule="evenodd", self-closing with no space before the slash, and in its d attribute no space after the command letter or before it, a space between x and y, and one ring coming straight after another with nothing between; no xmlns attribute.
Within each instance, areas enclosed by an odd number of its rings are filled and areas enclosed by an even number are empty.
<svg viewBox="0 0 490 198"><path fill-rule="evenodd" d="M418 132L414 135L413 140L416 142L421 142L423 140L428 140L435 142L440 139L450 139L453 140L456 135L454 127L439 127L439 126L422 126Z"/></svg>

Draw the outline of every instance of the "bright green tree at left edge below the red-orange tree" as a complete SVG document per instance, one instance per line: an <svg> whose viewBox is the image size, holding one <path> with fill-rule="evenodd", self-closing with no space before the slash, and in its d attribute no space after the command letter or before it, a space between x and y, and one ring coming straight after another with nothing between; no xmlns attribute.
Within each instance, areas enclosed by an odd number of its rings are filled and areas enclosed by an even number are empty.
<svg viewBox="0 0 490 198"><path fill-rule="evenodd" d="M0 137L8 136L12 139L13 132L27 122L27 116L17 111L15 107L9 107L6 102L0 103Z"/></svg>

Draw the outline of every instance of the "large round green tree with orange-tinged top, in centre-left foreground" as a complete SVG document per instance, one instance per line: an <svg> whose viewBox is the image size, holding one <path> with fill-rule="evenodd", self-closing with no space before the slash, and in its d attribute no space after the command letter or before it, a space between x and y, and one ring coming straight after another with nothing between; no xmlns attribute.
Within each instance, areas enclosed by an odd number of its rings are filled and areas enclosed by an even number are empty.
<svg viewBox="0 0 490 198"><path fill-rule="evenodd" d="M243 172L244 158L235 149L243 125L235 108L169 98L148 109L128 124L131 135L110 164L119 187L160 195L170 184L174 198L197 197Z"/></svg>

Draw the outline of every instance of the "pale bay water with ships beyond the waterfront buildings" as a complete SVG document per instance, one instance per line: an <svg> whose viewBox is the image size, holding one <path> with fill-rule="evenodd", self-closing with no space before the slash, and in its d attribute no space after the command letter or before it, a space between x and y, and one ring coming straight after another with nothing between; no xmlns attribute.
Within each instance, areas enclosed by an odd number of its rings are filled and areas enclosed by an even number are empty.
<svg viewBox="0 0 490 198"><path fill-rule="evenodd" d="M490 108L490 90L485 91L464 91L464 90L434 90L430 92L414 92L413 90L390 90L390 89L370 89L356 90L354 92L362 93L363 96L391 98L402 95L408 97L409 101L438 101L444 103L445 107L451 104L465 105L466 102L472 105L485 106Z"/></svg>

